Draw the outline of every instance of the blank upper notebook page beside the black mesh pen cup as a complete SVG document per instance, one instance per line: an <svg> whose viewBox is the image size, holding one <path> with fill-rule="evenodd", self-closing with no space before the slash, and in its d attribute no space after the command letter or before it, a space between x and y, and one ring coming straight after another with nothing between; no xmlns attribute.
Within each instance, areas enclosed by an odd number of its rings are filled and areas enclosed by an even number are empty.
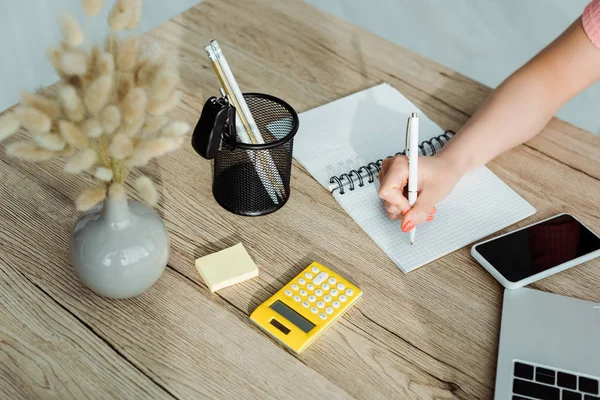
<svg viewBox="0 0 600 400"><path fill-rule="evenodd" d="M404 150L406 121L419 113L419 142L442 129L387 83L300 114L294 158L324 187L339 176Z"/></svg>

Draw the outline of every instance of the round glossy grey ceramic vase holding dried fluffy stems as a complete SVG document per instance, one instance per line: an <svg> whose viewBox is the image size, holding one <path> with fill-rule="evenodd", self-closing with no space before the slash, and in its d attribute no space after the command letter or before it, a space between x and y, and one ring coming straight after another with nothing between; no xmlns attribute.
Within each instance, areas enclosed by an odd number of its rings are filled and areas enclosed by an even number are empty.
<svg viewBox="0 0 600 400"><path fill-rule="evenodd" d="M71 234L75 272L102 296L137 296L158 280L168 259L165 224L137 201L106 199L82 215Z"/></svg>

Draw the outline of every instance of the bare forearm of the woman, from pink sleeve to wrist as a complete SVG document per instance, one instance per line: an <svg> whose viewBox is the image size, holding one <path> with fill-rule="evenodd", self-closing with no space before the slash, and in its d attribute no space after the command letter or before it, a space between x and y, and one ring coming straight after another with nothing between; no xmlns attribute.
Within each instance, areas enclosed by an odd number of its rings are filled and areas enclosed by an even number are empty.
<svg viewBox="0 0 600 400"><path fill-rule="evenodd" d="M461 172L536 136L558 109L600 79L600 51L581 21L505 80L440 153Z"/></svg>

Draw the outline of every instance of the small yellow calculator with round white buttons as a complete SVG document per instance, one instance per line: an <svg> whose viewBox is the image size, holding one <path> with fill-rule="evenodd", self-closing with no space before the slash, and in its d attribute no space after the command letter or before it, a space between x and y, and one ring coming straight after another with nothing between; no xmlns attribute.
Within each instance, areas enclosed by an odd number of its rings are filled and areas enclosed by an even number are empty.
<svg viewBox="0 0 600 400"><path fill-rule="evenodd" d="M313 262L262 303L250 319L279 343L302 353L362 296L362 291Z"/></svg>

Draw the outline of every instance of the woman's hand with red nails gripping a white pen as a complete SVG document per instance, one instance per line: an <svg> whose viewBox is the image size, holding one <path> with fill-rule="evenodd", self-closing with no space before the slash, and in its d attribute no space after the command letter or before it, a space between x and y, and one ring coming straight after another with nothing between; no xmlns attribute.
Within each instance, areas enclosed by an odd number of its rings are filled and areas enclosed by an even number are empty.
<svg viewBox="0 0 600 400"><path fill-rule="evenodd" d="M443 154L443 153L442 153ZM408 183L408 158L388 158L379 172L379 197L391 219L402 219L402 230L408 232L415 226L433 219L435 205L456 186L462 174L442 154L419 158L419 188L417 201L410 207L405 193Z"/></svg>

